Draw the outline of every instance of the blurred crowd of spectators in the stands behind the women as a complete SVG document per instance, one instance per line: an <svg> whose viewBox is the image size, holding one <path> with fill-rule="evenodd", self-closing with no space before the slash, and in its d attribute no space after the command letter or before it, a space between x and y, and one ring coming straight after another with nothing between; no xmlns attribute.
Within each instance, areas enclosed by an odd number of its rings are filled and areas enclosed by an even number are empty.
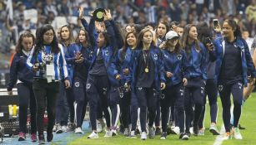
<svg viewBox="0 0 256 145"><path fill-rule="evenodd" d="M182 27L198 22L211 25L213 18L219 22L233 18L248 36L256 34L256 0L13 0L13 21L7 21L7 0L0 0L0 50L8 53L17 43L18 34L53 24L56 17L65 17L76 34L82 25L68 17L78 17L80 6L85 16L98 7L109 8L121 27L128 23L154 25L160 20L180 22ZM38 12L36 22L24 17L29 9Z"/></svg>

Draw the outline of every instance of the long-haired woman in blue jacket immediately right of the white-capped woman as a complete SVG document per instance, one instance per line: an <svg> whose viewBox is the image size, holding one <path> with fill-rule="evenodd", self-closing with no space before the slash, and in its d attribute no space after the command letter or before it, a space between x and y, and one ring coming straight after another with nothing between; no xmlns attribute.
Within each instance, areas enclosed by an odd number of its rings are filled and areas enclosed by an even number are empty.
<svg viewBox="0 0 256 145"><path fill-rule="evenodd" d="M190 136L189 127L193 119L193 133L197 136L198 122L203 111L205 81L207 80L206 49L198 41L197 28L192 24L184 27L181 44L187 58L187 69L184 71L184 81L188 81L185 88L186 134ZM194 116L191 118L193 105Z"/></svg>

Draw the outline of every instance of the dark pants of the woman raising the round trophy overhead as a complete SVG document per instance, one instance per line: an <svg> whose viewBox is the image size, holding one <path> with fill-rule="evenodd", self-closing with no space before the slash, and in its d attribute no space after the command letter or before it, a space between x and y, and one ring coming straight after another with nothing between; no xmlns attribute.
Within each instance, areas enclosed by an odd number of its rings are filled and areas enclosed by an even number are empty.
<svg viewBox="0 0 256 145"><path fill-rule="evenodd" d="M108 112L108 93L110 85L108 83L108 76L93 76L88 75L87 80L87 96L90 106L90 122L92 124L92 130L96 130L96 118L98 117L98 105L102 106L107 127L110 127L110 116Z"/></svg>

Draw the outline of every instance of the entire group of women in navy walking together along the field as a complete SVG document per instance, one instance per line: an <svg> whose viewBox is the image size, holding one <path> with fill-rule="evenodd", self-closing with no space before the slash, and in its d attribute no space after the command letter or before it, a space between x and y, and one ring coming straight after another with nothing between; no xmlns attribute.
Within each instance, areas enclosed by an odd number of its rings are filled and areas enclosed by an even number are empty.
<svg viewBox="0 0 256 145"><path fill-rule="evenodd" d="M120 29L108 10L103 22L91 17L88 23L83 7L79 18L83 28L75 39L68 25L58 36L45 25L36 36L26 31L19 37L8 84L8 94L14 85L18 88L19 141L26 139L28 106L30 137L44 144L45 109L51 142L53 130L83 133L87 105L92 128L87 138L98 138L98 123L106 123L104 137L119 131L130 138L140 133L143 140L156 134L165 139L168 133L178 133L188 140L191 132L204 134L206 96L209 131L218 135L218 94L223 138L242 139L238 122L243 87L255 81L256 70L236 22L225 20L212 34L206 22L180 27L178 22L160 21L155 29L152 24Z"/></svg>

